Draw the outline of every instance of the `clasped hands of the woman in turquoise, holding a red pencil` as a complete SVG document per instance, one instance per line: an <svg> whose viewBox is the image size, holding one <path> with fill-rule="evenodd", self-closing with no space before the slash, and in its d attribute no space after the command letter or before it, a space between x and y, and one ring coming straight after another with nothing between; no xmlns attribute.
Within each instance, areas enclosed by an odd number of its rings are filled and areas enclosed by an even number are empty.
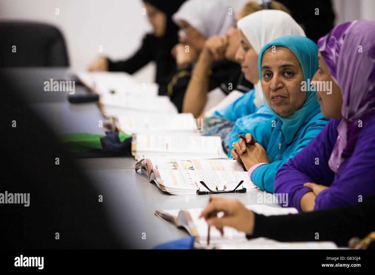
<svg viewBox="0 0 375 275"><path fill-rule="evenodd" d="M233 143L234 149L231 150L231 155L242 163L248 171L252 166L262 162L270 164L270 159L263 146L255 142L254 137L250 133L247 133L245 138L246 141L240 139L238 142ZM251 141L254 141L255 144L250 144Z"/></svg>

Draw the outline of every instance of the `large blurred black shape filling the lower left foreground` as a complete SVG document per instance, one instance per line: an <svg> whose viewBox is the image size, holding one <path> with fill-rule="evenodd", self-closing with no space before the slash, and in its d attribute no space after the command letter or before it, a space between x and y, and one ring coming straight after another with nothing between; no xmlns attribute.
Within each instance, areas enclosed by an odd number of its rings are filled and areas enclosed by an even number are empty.
<svg viewBox="0 0 375 275"><path fill-rule="evenodd" d="M105 202L1 75L0 91L0 193L30 193L28 207L0 204L0 247L121 248Z"/></svg>

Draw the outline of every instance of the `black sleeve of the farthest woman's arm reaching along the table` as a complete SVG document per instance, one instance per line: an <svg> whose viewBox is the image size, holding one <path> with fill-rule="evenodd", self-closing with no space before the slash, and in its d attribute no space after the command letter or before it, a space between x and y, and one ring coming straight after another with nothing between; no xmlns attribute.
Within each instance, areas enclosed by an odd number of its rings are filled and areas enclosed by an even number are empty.
<svg viewBox="0 0 375 275"><path fill-rule="evenodd" d="M108 59L108 71L124 71L132 74L153 60L156 49L156 37L146 34L143 39L142 47L132 57L125 61L111 61Z"/></svg>

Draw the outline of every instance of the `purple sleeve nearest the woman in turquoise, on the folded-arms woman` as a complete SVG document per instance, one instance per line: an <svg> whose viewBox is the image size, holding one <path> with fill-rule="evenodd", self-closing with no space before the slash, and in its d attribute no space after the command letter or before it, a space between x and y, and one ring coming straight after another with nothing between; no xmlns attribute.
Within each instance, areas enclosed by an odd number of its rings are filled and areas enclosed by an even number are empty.
<svg viewBox="0 0 375 275"><path fill-rule="evenodd" d="M337 138L339 120L332 119L323 130L296 156L289 159L277 172L275 193L285 194L288 207L300 209L300 200L311 189L303 186L313 182L330 186L335 173L329 168L328 160Z"/></svg>

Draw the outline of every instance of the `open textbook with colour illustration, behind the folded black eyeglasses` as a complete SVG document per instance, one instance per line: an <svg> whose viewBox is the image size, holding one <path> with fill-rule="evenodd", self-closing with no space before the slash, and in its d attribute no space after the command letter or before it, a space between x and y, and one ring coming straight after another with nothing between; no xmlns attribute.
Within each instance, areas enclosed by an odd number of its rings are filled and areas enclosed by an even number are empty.
<svg viewBox="0 0 375 275"><path fill-rule="evenodd" d="M135 170L147 175L150 183L172 195L192 195L202 187L203 181L211 190L224 190L224 186L237 186L243 181L246 192L260 191L248 177L248 172L236 160L228 159L141 159Z"/></svg>

